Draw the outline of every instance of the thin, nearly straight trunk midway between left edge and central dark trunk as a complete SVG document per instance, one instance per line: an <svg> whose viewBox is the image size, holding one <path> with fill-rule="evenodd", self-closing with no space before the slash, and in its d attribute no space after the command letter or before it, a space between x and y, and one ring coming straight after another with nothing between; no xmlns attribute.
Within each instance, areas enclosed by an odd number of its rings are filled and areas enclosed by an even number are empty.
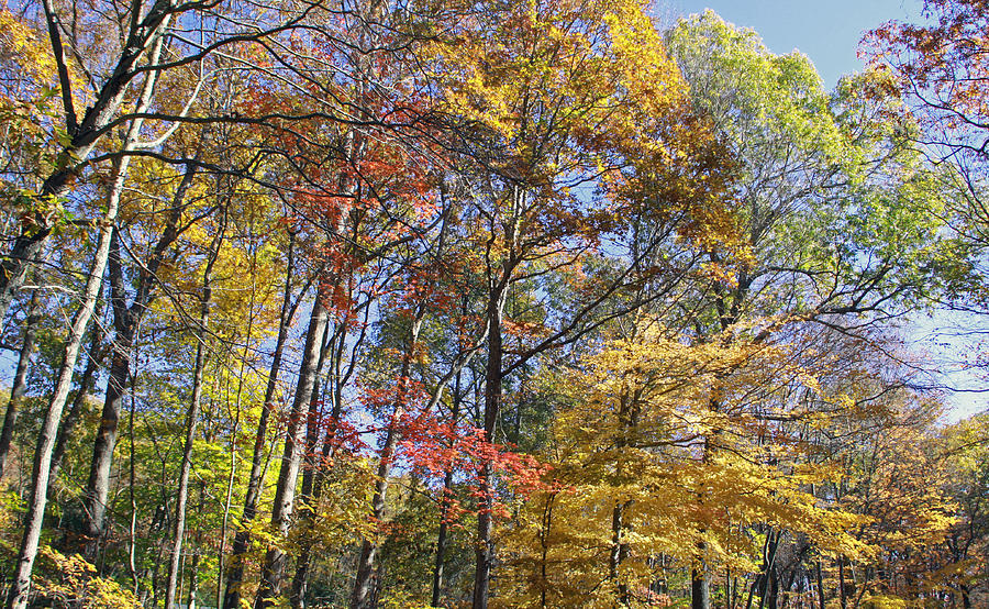
<svg viewBox="0 0 989 609"><path fill-rule="evenodd" d="M186 532L186 500L189 495L189 470L192 468L192 445L196 441L196 428L199 423L200 401L202 399L202 373L205 366L207 324L210 318L210 300L212 298L213 264L220 253L223 241L222 229L218 232L210 246L209 258L202 274L202 299L199 310L199 329L196 335L196 364L192 372L192 398L189 401L189 411L186 413L186 440L182 449L182 462L179 466L179 485L175 503L175 523L171 538L171 555L168 563L168 585L165 588L165 608L171 609L175 605L176 588L178 587L181 571L179 560L182 555L182 536ZM195 569L192 579L196 579Z"/></svg>

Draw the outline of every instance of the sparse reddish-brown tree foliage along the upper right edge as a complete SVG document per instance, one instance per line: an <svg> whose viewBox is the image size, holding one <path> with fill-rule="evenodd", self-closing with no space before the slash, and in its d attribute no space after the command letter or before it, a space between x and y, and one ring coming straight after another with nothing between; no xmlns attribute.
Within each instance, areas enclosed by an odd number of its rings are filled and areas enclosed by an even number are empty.
<svg viewBox="0 0 989 609"><path fill-rule="evenodd" d="M898 95L904 111L915 118L918 126L909 136L940 167L938 188L948 195L942 214L978 252L974 277L957 281L943 302L984 313L984 261L989 245L989 10L975 0L925 0L922 14L921 24L889 22L869 32L859 53L887 75L887 90Z"/></svg>

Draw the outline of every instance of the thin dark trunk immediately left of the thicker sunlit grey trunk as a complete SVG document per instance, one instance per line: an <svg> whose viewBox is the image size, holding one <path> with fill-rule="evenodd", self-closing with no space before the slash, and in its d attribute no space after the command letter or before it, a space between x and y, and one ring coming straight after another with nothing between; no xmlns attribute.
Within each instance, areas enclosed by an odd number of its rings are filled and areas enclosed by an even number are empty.
<svg viewBox="0 0 989 609"><path fill-rule="evenodd" d="M262 491L262 473L264 469L265 449L268 442L268 421L275 410L275 391L278 388L278 373L281 369L281 357L288 330L292 319L292 275L295 274L293 245L296 234L289 233L288 264L285 276L285 295L281 300L281 313L278 318L278 337L275 340L275 352L271 355L271 367L265 387L264 405L254 435L254 451L251 456L251 474L247 477L247 492L244 496L244 511L241 514L240 529L234 535L233 552L230 557L230 573L226 578L226 593L223 597L224 609L240 609L241 583L244 578L244 554L251 544L249 524L257 516L257 501Z"/></svg>

